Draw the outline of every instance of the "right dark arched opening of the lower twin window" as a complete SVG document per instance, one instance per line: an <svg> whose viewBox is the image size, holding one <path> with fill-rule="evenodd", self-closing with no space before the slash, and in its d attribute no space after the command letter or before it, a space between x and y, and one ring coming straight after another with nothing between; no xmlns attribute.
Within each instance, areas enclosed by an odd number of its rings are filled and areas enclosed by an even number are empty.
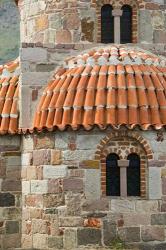
<svg viewBox="0 0 166 250"><path fill-rule="evenodd" d="M127 158L127 195L140 196L140 157L137 154L130 154Z"/></svg>

